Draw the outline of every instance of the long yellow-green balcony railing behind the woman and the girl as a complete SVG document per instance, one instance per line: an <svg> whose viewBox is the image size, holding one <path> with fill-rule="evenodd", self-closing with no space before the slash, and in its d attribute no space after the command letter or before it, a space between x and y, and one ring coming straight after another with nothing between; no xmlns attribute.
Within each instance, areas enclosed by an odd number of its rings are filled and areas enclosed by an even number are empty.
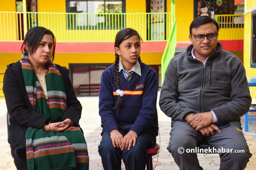
<svg viewBox="0 0 256 170"><path fill-rule="evenodd" d="M50 29L58 42L113 42L123 28L137 30L143 41L167 41L170 12L159 13L52 13L26 12L28 29ZM23 12L0 12L0 41L22 41Z"/></svg>

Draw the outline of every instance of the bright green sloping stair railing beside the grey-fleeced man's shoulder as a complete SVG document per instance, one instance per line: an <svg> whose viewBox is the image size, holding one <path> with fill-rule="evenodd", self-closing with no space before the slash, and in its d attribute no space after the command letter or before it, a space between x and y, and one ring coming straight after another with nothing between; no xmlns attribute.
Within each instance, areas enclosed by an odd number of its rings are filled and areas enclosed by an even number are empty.
<svg viewBox="0 0 256 170"><path fill-rule="evenodd" d="M165 70L170 62L170 60L174 57L176 44L177 44L177 25L176 18L174 19L174 25L172 27L170 36L167 40L166 47L164 50L163 57L161 59L161 76L162 76L162 84L164 82L164 74Z"/></svg>

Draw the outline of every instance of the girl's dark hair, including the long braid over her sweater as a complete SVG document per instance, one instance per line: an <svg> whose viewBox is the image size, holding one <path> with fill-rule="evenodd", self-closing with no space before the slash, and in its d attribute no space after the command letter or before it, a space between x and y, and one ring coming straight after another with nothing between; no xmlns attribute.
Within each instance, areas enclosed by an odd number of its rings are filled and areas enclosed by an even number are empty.
<svg viewBox="0 0 256 170"><path fill-rule="evenodd" d="M115 36L115 47L120 46L120 44L130 38L131 36L136 35L138 36L139 40L143 42L141 36L138 34L137 31L131 29L131 28L125 28L120 30L116 36ZM138 61L141 62L141 57L138 58ZM115 52L115 63L114 63L114 76L115 76L115 86L116 90L120 89L120 82L119 82L119 55ZM114 110L117 110L122 105L122 97L118 95L118 100L116 106L113 108Z"/></svg>

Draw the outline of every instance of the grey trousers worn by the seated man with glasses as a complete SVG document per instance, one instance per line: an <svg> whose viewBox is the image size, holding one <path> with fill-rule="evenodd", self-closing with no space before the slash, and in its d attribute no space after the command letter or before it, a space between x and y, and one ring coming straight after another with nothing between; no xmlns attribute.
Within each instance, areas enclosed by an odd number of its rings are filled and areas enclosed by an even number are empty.
<svg viewBox="0 0 256 170"><path fill-rule="evenodd" d="M244 150L244 153L219 153L220 170L244 169L252 154L241 132L241 123L238 121L230 121L229 123L230 126L221 128L220 133L215 131L215 135L204 137L187 122L173 120L170 142L167 149L172 154L180 170L203 169L199 166L196 153L186 153L186 149L195 149L201 140L209 142L216 149ZM178 153L178 148L180 147L183 147L185 150L183 154Z"/></svg>

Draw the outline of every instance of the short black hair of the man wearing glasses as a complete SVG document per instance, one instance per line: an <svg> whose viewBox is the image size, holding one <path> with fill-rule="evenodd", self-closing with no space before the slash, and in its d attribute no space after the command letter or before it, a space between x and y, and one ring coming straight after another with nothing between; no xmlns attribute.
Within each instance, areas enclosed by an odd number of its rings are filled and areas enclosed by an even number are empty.
<svg viewBox="0 0 256 170"><path fill-rule="evenodd" d="M201 25L204 25L204 24L208 24L208 23L214 23L214 25L216 26L217 28L217 33L218 31L220 30L219 28L219 25L218 23L211 17L209 16L200 16L200 17L197 17L195 18L190 26L189 26L189 34L191 35L192 34L192 29L197 29L198 27L200 27Z"/></svg>

